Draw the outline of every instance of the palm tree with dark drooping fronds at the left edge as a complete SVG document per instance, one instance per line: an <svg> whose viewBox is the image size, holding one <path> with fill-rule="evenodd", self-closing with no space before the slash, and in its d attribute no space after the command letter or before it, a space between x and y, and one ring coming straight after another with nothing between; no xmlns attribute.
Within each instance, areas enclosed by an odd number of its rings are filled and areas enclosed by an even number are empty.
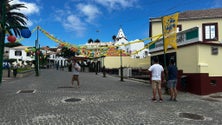
<svg viewBox="0 0 222 125"><path fill-rule="evenodd" d="M24 4L9 4L13 0L1 0L0 3L0 83L2 82L2 65L6 33L15 36L21 36L21 29L27 28L28 18L18 12L21 8L26 8Z"/></svg>

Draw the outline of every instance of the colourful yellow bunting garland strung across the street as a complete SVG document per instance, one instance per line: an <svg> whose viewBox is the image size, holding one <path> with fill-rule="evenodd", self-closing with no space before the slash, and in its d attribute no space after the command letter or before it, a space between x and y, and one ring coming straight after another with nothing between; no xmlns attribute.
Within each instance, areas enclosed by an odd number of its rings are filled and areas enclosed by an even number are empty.
<svg viewBox="0 0 222 125"><path fill-rule="evenodd" d="M149 37L149 38L144 38L144 39L140 39L140 40L135 40L126 44L120 44L120 45L112 45L112 46L98 46L98 47L89 47L87 45L82 45L82 46L77 46L77 45L73 45L70 44L70 42L65 42L62 40L59 40L58 38L56 38L55 36L53 36L52 34L48 33L46 30L44 30L42 27L37 26L36 28L34 28L32 30L32 33L35 32L36 30L40 30L46 37L48 37L50 40L58 43L60 46L62 47L67 47L69 49L71 49L74 52L80 52L80 55L84 56L84 57L88 57L88 58L94 58L94 57L101 57L101 56L119 56L120 51L118 51L116 48L121 47L121 46L128 46L130 44L136 44L136 43L140 43L140 42L145 42L147 40L151 40L151 42L149 42L148 44L146 44L144 46L144 48L140 49L140 50L136 50L134 52L125 52L123 51L122 54L123 55L135 55L138 54L139 52L143 51L146 48L149 48L150 45L154 44L157 40L159 40L163 34L159 34L153 37ZM21 42L23 40L23 38L17 40L17 42Z"/></svg>

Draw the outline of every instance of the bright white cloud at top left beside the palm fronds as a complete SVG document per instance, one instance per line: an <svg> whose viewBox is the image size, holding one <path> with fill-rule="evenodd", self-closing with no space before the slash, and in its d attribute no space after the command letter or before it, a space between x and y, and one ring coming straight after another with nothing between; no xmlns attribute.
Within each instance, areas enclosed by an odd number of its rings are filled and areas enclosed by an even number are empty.
<svg viewBox="0 0 222 125"><path fill-rule="evenodd" d="M31 15L34 13L39 13L39 7L35 3L23 2L20 0L13 0L10 4L24 4L27 8L22 8L19 12L25 15Z"/></svg>

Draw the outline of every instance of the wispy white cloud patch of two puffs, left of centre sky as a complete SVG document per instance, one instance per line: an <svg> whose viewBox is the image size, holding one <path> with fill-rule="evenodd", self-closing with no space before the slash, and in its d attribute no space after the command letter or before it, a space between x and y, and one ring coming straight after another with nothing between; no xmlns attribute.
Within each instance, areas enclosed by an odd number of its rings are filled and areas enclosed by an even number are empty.
<svg viewBox="0 0 222 125"><path fill-rule="evenodd" d="M87 29L87 24L97 18L100 11L96 6L91 4L77 4L76 8L67 6L65 10L58 10L55 13L55 19L62 23L68 31L74 31L78 37L83 37Z"/></svg>

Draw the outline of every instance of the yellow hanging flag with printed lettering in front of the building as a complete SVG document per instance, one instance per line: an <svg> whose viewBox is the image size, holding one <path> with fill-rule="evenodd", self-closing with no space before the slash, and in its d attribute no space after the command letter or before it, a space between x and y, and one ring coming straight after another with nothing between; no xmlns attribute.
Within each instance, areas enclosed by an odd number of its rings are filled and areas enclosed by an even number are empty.
<svg viewBox="0 0 222 125"><path fill-rule="evenodd" d="M164 51L167 51L168 46L177 49L177 23L179 13L164 16L162 19L163 36L164 36Z"/></svg>

